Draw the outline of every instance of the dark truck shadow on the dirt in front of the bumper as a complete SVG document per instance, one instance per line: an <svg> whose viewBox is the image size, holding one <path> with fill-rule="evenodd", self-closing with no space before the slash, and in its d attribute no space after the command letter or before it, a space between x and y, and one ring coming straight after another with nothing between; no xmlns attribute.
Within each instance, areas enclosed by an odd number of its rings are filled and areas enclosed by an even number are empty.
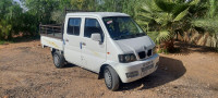
<svg viewBox="0 0 218 98"><path fill-rule="evenodd" d="M185 72L186 69L180 60L160 57L160 65L155 73L136 82L123 84L121 90L130 90L133 88L143 90L161 86L180 78Z"/></svg>

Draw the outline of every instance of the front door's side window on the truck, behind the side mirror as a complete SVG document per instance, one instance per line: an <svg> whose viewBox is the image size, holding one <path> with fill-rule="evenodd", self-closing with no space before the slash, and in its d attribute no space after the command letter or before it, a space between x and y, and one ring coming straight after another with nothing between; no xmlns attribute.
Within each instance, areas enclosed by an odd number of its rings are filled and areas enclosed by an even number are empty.
<svg viewBox="0 0 218 98"><path fill-rule="evenodd" d="M101 40L104 41L104 33L98 21L96 19L86 19L84 37L90 38L92 34L94 33L99 33Z"/></svg>

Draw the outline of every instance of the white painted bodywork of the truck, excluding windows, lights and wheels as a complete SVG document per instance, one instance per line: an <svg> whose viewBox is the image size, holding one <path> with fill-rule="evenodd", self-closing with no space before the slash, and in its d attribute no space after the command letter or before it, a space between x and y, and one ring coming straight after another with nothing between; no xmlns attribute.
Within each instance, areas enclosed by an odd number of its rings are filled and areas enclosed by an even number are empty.
<svg viewBox="0 0 218 98"><path fill-rule="evenodd" d="M84 69L90 70L93 72L99 73L101 65L111 65L120 76L123 83L130 83L140 79L157 70L157 62L159 61L158 54L153 54L149 58L140 60L137 52L143 51L146 46L149 49L155 47L154 41L148 36L113 40L104 22L105 16L129 16L124 13L111 13L111 12L84 12L84 13L69 13L65 16L65 23L68 23L70 17L81 17L81 33L80 36L68 35L66 26L64 24L63 40L41 36L41 45L53 49L63 51L64 58L68 62L82 66ZM85 19L96 19L105 34L105 39L102 44L92 40L90 38L84 37L84 24ZM65 41L68 40L68 41ZM84 42L86 46L81 46ZM108 53L109 52L109 53ZM119 54L134 53L137 61L130 63L120 63ZM154 68L142 73L142 68L146 66L145 63L153 61ZM128 78L125 73L138 71L140 75L133 78Z"/></svg>

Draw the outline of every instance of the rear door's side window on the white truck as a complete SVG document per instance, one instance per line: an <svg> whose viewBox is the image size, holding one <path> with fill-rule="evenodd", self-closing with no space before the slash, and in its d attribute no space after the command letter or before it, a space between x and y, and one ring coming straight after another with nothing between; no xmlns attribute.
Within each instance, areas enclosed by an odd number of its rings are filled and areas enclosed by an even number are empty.
<svg viewBox="0 0 218 98"><path fill-rule="evenodd" d="M81 19L69 19L68 34L78 36L81 32Z"/></svg>

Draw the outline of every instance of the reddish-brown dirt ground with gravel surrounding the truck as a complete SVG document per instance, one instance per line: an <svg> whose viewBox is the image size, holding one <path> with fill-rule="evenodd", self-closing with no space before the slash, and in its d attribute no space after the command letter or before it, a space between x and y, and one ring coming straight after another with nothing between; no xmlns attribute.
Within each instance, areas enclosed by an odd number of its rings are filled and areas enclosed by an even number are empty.
<svg viewBox="0 0 218 98"><path fill-rule="evenodd" d="M185 46L186 47L186 46ZM39 40L0 46L0 97L218 97L218 53L189 47L160 54L160 66L118 91L106 88L98 75L68 64L56 69L49 48Z"/></svg>

